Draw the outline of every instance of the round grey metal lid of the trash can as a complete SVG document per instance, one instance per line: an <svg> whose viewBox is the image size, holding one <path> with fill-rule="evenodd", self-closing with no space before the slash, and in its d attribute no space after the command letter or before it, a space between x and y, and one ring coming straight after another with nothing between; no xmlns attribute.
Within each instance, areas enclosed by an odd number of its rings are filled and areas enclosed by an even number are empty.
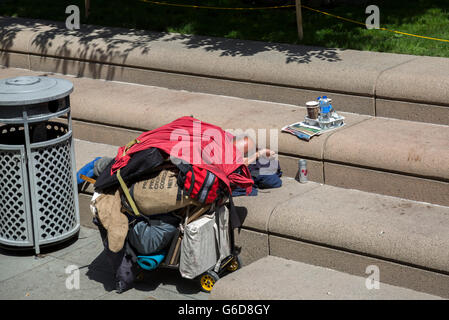
<svg viewBox="0 0 449 320"><path fill-rule="evenodd" d="M43 76L21 76L0 80L0 107L23 106L68 96L72 82Z"/></svg>

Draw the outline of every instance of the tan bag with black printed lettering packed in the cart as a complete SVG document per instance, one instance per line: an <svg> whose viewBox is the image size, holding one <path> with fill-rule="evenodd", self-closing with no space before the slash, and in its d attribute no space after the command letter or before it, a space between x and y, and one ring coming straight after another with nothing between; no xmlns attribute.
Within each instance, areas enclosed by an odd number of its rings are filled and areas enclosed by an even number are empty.
<svg viewBox="0 0 449 320"><path fill-rule="evenodd" d="M178 187L177 177L177 169L162 169L129 187L129 194L139 213L162 214L191 204L196 205L196 201L184 195ZM124 209L134 213L127 197L122 194L121 199Z"/></svg>

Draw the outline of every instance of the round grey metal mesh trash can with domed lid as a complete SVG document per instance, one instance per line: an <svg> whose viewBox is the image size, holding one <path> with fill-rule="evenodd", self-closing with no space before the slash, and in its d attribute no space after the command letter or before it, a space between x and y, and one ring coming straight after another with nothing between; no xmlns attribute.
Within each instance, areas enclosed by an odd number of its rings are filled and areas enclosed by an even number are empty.
<svg viewBox="0 0 449 320"><path fill-rule="evenodd" d="M72 91L50 77L0 80L1 245L39 254L80 229Z"/></svg>

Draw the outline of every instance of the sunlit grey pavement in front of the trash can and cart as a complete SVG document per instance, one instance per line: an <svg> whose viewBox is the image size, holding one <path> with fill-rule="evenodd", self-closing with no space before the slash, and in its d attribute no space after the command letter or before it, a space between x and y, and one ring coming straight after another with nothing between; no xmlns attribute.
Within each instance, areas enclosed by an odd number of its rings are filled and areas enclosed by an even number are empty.
<svg viewBox="0 0 449 320"><path fill-rule="evenodd" d="M73 242L73 241L72 241ZM96 229L81 227L78 240L64 247L33 253L0 249L0 299L42 300L206 300L194 281L177 270L160 269L146 274L144 282L123 294L114 290L113 273L103 254ZM79 267L80 288L66 288L66 268Z"/></svg>

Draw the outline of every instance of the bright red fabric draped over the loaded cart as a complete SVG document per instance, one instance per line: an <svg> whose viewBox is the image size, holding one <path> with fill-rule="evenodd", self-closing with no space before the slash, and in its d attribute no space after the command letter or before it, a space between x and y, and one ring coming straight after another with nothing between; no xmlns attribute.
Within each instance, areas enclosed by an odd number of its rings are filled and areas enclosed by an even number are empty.
<svg viewBox="0 0 449 320"><path fill-rule="evenodd" d="M254 182L233 137L218 126L182 117L142 133L131 146L119 148L111 175L125 167L134 153L154 147L170 155L178 168L185 171L184 189L201 203L211 203L217 198L218 179L229 193L231 185L235 185L249 194Z"/></svg>

